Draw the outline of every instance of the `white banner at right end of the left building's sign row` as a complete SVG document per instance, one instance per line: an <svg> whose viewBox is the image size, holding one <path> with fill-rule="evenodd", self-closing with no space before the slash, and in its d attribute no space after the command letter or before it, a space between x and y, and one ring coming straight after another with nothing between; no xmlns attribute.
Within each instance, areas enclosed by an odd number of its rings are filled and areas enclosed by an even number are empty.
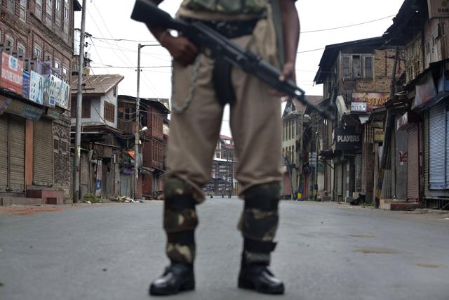
<svg viewBox="0 0 449 300"><path fill-rule="evenodd" d="M64 81L53 75L48 75L43 89L43 103L48 106L58 105L59 107L69 108L70 87Z"/></svg>

